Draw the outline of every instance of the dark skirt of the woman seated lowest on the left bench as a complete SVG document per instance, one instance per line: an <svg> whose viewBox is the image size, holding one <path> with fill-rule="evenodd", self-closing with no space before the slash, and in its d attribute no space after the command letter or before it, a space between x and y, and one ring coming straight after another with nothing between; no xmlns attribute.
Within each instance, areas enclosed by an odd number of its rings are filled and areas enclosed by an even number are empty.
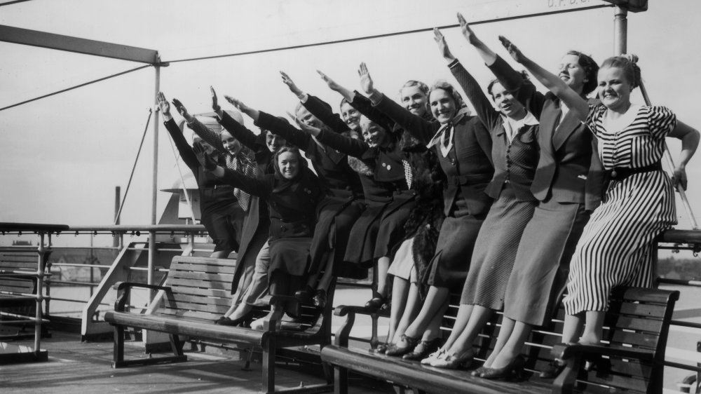
<svg viewBox="0 0 701 394"><path fill-rule="evenodd" d="M276 238L268 240L270 266L268 276L280 270L288 275L306 276L309 268L311 237Z"/></svg>

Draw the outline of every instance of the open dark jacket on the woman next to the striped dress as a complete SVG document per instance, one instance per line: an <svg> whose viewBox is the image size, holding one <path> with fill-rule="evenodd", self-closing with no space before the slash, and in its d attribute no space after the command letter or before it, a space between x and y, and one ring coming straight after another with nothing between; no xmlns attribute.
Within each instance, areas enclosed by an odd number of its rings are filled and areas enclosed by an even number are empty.
<svg viewBox="0 0 701 394"><path fill-rule="evenodd" d="M533 196L540 201L554 198L559 203L585 204L587 210L597 208L604 191L604 172L596 137L571 112L563 118L555 95L538 93L501 57L489 69L540 121L540 160L531 184Z"/></svg>

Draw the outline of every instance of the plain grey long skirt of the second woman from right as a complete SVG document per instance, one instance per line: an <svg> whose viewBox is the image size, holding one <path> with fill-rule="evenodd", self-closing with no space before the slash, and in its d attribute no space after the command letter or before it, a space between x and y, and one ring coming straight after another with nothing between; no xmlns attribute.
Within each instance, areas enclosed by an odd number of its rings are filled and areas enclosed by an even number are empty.
<svg viewBox="0 0 701 394"><path fill-rule="evenodd" d="M590 214L584 204L540 203L526 225L504 298L504 315L529 325L550 320L569 261Z"/></svg>

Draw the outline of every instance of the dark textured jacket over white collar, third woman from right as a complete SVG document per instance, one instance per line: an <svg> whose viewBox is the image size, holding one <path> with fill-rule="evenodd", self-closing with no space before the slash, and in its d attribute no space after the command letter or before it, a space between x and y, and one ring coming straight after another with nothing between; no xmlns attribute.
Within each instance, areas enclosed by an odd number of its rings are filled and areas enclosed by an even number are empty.
<svg viewBox="0 0 701 394"><path fill-rule="evenodd" d="M494 178L485 192L491 198L499 198L505 182L508 182L519 201L536 201L531 193L531 182L538 166L538 125L525 125L514 130L513 140L509 142L503 115L492 107L475 78L458 60L448 67L468 95L477 117L491 133Z"/></svg>

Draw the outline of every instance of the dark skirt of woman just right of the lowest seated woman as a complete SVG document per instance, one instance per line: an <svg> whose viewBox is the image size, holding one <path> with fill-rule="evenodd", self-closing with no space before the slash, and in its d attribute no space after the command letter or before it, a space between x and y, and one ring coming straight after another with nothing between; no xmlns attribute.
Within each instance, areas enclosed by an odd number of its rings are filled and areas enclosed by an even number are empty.
<svg viewBox="0 0 701 394"><path fill-rule="evenodd" d="M320 202L311 242L309 273L316 273L323 268L328 252L334 253L334 261L339 263L334 264L334 274L340 273L336 271L343 267L341 261L346 255L348 236L364 209L365 203L354 199L351 192L343 197L328 196Z"/></svg>

